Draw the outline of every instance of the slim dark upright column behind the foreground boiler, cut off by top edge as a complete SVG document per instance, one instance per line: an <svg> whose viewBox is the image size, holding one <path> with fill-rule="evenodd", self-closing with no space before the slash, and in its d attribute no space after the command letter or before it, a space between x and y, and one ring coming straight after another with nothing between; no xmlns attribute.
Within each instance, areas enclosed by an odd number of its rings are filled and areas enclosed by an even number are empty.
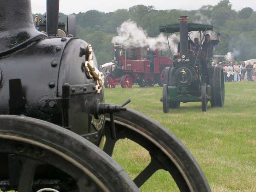
<svg viewBox="0 0 256 192"><path fill-rule="evenodd" d="M59 0L46 1L46 33L48 36L57 36L59 20Z"/></svg>

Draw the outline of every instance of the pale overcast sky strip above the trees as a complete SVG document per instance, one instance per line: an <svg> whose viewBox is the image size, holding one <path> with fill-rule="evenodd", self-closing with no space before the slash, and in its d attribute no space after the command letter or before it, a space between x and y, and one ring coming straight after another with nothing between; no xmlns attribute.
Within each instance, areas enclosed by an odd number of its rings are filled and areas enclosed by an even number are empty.
<svg viewBox="0 0 256 192"><path fill-rule="evenodd" d="M60 12L65 14L86 12L89 10L98 10L101 12L113 12L117 9L129 9L131 6L143 4L153 5L157 10L183 9L197 10L203 5L216 5L220 0L60 0ZM245 7L251 7L256 11L255 0L229 0L233 9L241 10ZM45 3L41 3L45 2ZM32 13L45 13L46 0L31 0Z"/></svg>

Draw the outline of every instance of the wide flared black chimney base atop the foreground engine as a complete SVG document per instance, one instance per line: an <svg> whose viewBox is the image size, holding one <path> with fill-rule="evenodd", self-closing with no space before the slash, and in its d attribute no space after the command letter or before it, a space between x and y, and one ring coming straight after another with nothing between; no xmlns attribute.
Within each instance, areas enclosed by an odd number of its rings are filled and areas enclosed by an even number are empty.
<svg viewBox="0 0 256 192"><path fill-rule="evenodd" d="M45 35L35 29L30 0L0 0L0 56Z"/></svg>

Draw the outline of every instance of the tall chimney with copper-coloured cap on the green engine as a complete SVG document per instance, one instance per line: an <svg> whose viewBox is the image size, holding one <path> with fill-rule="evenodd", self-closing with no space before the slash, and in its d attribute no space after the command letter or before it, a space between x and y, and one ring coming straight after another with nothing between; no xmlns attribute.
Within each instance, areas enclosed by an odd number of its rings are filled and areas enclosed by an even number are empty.
<svg viewBox="0 0 256 192"><path fill-rule="evenodd" d="M188 19L187 16L179 17L181 56L185 57L188 57Z"/></svg>

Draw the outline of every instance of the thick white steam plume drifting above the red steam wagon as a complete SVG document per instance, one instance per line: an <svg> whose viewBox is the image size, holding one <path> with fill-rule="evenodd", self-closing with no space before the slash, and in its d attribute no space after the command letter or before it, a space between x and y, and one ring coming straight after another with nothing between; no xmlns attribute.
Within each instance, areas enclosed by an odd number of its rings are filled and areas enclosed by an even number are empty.
<svg viewBox="0 0 256 192"><path fill-rule="evenodd" d="M147 31L143 30L134 21L127 20L117 28L118 36L112 39L113 44L119 44L124 47L144 47L149 46L151 49L168 50L167 37L164 34L159 34L157 37L151 38L147 36ZM177 53L177 43L179 36L172 34L168 36L172 54Z"/></svg>

